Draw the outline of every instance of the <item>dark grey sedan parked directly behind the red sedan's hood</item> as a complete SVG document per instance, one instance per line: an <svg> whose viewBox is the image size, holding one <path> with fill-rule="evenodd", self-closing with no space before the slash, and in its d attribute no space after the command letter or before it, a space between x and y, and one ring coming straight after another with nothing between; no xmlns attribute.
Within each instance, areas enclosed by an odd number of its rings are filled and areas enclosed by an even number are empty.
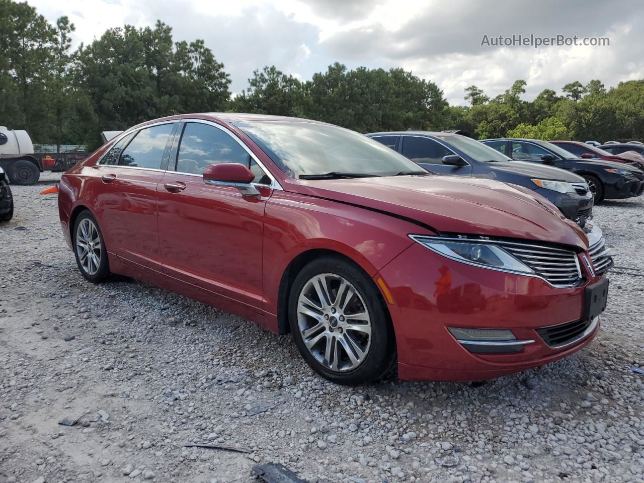
<svg viewBox="0 0 644 483"><path fill-rule="evenodd" d="M443 175L488 178L531 189L583 225L591 217L592 193L581 176L552 166L514 161L469 137L430 131L370 133L419 166Z"/></svg>

